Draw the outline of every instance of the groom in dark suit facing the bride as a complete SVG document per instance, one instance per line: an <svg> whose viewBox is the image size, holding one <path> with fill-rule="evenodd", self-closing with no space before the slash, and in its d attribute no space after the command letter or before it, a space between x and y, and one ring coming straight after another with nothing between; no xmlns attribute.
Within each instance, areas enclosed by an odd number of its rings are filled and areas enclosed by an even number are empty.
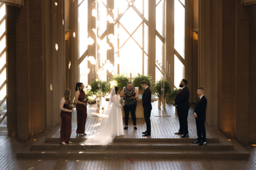
<svg viewBox="0 0 256 170"><path fill-rule="evenodd" d="M146 122L147 130L142 132L142 136L150 136L151 135L151 122L150 122L150 115L152 110L151 105L151 90L148 87L148 83L146 81L142 81L141 83L142 88L144 88L144 93L142 95L142 107L144 108L144 119Z"/></svg>

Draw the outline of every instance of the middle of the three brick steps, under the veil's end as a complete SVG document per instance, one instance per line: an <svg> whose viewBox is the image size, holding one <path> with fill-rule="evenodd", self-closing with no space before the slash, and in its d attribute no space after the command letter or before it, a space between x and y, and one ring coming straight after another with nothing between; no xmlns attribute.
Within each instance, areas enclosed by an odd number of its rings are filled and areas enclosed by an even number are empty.
<svg viewBox="0 0 256 170"><path fill-rule="evenodd" d="M44 143L42 145L32 145L32 150L83 150L84 147L79 143L62 145L61 143ZM108 145L106 150L233 150L233 145L222 145L220 143L207 143L198 146L193 143L155 143L155 142L114 142Z"/></svg>

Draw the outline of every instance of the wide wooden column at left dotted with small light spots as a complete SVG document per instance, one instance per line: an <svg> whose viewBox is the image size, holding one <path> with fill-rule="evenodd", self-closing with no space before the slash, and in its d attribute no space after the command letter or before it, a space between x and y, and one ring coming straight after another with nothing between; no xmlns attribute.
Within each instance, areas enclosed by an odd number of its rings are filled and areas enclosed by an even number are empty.
<svg viewBox="0 0 256 170"><path fill-rule="evenodd" d="M46 127L60 123L65 87L64 0L45 1Z"/></svg>

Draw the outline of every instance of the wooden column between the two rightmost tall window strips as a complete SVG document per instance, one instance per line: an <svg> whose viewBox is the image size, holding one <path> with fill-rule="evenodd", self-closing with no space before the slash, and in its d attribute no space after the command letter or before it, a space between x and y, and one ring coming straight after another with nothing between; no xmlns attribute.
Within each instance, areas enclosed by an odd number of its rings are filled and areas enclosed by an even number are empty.
<svg viewBox="0 0 256 170"><path fill-rule="evenodd" d="M166 76L171 88L174 87L174 1L164 0L164 57L170 64L171 76ZM165 66L166 68L166 66Z"/></svg>

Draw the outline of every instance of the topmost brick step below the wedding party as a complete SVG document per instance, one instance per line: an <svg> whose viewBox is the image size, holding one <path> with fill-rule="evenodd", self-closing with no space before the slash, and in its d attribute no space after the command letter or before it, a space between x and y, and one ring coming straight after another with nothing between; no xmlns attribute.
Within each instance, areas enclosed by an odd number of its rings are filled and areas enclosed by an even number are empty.
<svg viewBox="0 0 256 170"><path fill-rule="evenodd" d="M188 142L191 143L193 141L196 141L196 137L185 137L180 138L180 136L177 136L177 138L170 138L168 136L150 136L150 137L142 137L142 136L126 136L127 138L120 138L116 137L114 139L114 142ZM82 142L86 137L76 137L76 138L70 138L70 141L77 143ZM218 142L219 139L216 137L207 138L206 142ZM60 138L46 138L46 142L60 142Z"/></svg>

